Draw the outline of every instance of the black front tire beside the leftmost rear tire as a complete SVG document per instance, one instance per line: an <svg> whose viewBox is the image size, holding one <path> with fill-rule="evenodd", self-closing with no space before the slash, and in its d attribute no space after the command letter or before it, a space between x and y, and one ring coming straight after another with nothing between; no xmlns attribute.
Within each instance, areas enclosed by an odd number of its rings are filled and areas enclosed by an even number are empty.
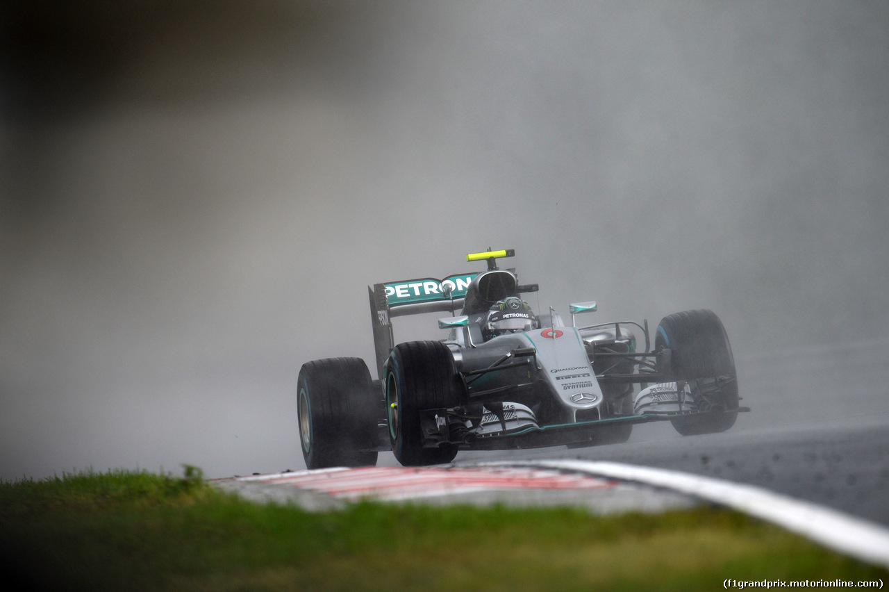
<svg viewBox="0 0 889 592"><path fill-rule="evenodd" d="M451 351L440 341L398 344L383 372L392 452L405 467L451 462L452 444L424 448L420 411L461 404L462 382Z"/></svg>

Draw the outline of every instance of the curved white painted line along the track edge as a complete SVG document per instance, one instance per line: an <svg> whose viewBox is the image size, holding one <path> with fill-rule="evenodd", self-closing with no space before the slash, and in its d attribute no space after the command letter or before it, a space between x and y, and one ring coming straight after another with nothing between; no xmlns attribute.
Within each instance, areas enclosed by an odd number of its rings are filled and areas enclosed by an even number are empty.
<svg viewBox="0 0 889 592"><path fill-rule="evenodd" d="M557 468L663 487L740 510L750 516L779 524L791 532L797 532L861 561L889 567L889 529L753 485L663 468L591 460L540 460L527 463L498 461L478 463L478 466Z"/></svg>

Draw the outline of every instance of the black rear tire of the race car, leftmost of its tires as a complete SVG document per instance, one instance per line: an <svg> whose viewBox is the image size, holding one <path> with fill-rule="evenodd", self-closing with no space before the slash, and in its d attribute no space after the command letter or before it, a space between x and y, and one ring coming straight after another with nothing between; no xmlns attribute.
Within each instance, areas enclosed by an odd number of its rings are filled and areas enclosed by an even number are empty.
<svg viewBox="0 0 889 592"><path fill-rule="evenodd" d="M297 379L300 447L307 468L377 463L378 391L364 360L335 357L302 364Z"/></svg>

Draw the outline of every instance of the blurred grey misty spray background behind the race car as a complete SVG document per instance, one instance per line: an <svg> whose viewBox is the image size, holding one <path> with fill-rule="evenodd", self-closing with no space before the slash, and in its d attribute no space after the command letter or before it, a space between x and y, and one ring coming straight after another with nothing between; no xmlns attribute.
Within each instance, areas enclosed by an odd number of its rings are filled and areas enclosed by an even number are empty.
<svg viewBox="0 0 889 592"><path fill-rule="evenodd" d="M374 372L365 286L488 246L534 308L715 310L736 429L889 413L889 3L32 4L0 478L303 468L300 364Z"/></svg>

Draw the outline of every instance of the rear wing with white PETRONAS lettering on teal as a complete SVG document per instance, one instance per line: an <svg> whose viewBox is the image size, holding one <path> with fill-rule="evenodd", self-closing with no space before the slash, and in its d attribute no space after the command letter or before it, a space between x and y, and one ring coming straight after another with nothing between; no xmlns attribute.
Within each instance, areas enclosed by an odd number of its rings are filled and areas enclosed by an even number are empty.
<svg viewBox="0 0 889 592"><path fill-rule="evenodd" d="M392 318L429 312L453 312L463 307L466 291L478 274L457 274L445 279L419 279L368 286L377 370L395 347Z"/></svg>

